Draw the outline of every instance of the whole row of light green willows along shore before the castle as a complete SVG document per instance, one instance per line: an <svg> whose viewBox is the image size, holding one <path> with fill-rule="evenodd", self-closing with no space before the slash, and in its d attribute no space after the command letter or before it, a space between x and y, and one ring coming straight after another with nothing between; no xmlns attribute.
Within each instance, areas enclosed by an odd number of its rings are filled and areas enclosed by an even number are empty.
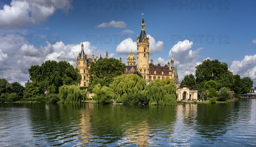
<svg viewBox="0 0 256 147"><path fill-rule="evenodd" d="M98 84L94 87L94 98L98 103L172 105L176 99L176 85L170 78L154 80L146 84L137 74L120 75L113 79L110 87Z"/></svg>

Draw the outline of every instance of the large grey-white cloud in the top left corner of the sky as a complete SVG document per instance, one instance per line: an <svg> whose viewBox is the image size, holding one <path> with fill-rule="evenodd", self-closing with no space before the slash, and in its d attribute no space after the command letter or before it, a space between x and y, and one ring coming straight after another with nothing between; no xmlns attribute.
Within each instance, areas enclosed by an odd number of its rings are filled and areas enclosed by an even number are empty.
<svg viewBox="0 0 256 147"><path fill-rule="evenodd" d="M4 5L0 10L1 29L21 29L23 26L44 23L58 9L67 12L71 3L72 0L12 0L10 5Z"/></svg>

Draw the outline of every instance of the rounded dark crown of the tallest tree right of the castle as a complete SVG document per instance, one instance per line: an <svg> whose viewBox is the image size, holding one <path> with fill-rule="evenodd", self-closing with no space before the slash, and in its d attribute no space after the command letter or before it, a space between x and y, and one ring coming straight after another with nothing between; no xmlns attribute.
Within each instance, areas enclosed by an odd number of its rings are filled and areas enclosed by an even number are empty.
<svg viewBox="0 0 256 147"><path fill-rule="evenodd" d="M210 61L209 59L196 66L195 76L196 82L214 80L218 81L229 74L227 63L218 60Z"/></svg>

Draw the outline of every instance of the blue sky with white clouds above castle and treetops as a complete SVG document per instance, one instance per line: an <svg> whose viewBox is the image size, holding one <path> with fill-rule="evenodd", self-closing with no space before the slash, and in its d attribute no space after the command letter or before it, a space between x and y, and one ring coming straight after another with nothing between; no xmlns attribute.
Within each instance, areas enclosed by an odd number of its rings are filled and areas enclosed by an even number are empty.
<svg viewBox="0 0 256 147"><path fill-rule="evenodd" d="M125 61L134 45L119 44L127 37L135 41L134 38L140 35L141 14L144 13L145 32L155 40L150 40L150 59L154 59L154 63L163 65L174 55L178 69L183 73L186 69L195 69L206 58L218 59L228 63L234 74L251 77L256 85L256 1L118 1L115 7L115 1L63 0L53 3L52 0L51 8L43 2L41 10L33 9L38 2L34 1L31 10L25 9L27 14L22 10L10 13L13 9L3 8L6 3L12 6L11 2L15 3L15 0L1 2L1 40L5 35L42 35L44 41L13 45L3 40L1 69L28 69L31 64L54 58L67 60L75 66L79 45L85 41L90 42L89 56L105 54L108 49L112 57L121 56ZM56 4L58 10L54 9ZM11 21L10 17L17 19ZM113 23L109 23L111 21ZM97 27L102 23L105 27ZM129 31L125 33L125 30ZM49 35L51 38L58 36L51 39L51 46L46 43ZM91 36L93 39L88 38ZM117 36L116 42L113 36ZM54 39L63 44L56 45ZM182 42L184 40L186 43ZM1 74L6 76L3 72ZM182 77L181 74L180 79ZM27 80L8 78L9 81Z"/></svg>

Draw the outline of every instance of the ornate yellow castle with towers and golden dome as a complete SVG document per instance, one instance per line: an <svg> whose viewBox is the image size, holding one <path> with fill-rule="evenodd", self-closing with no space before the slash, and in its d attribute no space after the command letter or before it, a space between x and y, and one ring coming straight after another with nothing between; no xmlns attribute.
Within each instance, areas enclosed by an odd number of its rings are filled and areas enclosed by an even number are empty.
<svg viewBox="0 0 256 147"><path fill-rule="evenodd" d="M98 60L98 57L94 58L94 55L92 56L92 58L87 57L84 53L84 45L82 43L81 52L79 52L76 61L76 68L82 77L79 86L88 86L89 84L88 69L90 68L90 63ZM108 50L106 52L106 58L108 58ZM120 58L120 62L122 62L122 58ZM171 63L168 61L168 64L165 66L161 66L160 63L154 65L153 60L149 63L149 38L145 33L144 18L142 18L140 36L137 37L137 64L136 58L131 50L131 54L127 58L125 74L131 74L136 71L140 72L147 83L154 79L164 79L166 77L174 79L176 85L179 83L173 57Z"/></svg>

